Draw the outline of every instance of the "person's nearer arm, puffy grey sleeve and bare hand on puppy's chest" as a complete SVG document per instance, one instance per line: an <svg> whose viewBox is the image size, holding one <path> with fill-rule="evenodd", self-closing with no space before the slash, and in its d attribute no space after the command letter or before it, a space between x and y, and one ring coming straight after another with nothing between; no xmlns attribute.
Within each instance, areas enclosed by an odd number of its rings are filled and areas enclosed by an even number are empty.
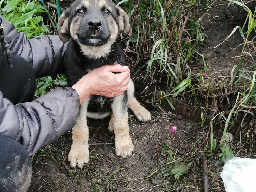
<svg viewBox="0 0 256 192"><path fill-rule="evenodd" d="M114 65L85 75L73 88L59 87L33 102L13 105L0 91L0 135L17 140L32 155L74 127L79 103L89 95L121 95L128 82L129 68Z"/></svg>

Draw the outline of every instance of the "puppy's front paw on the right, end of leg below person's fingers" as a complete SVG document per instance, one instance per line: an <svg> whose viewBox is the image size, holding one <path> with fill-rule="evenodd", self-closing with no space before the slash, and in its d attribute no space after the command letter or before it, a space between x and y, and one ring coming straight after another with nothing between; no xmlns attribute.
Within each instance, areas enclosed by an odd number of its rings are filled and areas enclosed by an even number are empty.
<svg viewBox="0 0 256 192"><path fill-rule="evenodd" d="M115 145L117 156L122 156L123 158L126 158L132 155L134 146L132 144L130 135L116 137Z"/></svg>

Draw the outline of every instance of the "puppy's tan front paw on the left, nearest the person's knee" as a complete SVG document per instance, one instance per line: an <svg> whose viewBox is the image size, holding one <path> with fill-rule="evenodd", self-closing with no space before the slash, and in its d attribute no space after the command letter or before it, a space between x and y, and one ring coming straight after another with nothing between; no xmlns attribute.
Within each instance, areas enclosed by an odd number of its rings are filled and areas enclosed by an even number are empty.
<svg viewBox="0 0 256 192"><path fill-rule="evenodd" d="M70 152L68 154L68 161L70 161L71 167L82 167L84 163L89 161L89 149L88 144L72 144Z"/></svg>

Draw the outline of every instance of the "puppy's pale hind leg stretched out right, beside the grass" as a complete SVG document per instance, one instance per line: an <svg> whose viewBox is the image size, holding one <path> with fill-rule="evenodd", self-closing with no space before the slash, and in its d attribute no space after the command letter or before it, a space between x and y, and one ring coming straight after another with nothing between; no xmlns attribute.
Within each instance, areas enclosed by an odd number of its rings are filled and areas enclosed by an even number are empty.
<svg viewBox="0 0 256 192"><path fill-rule="evenodd" d="M132 79L130 79L130 82L128 84L128 107L132 110L134 115L137 117L139 121L150 121L151 120L151 114L148 110L146 110L143 106L140 105L140 103L136 100L134 97L134 84Z"/></svg>

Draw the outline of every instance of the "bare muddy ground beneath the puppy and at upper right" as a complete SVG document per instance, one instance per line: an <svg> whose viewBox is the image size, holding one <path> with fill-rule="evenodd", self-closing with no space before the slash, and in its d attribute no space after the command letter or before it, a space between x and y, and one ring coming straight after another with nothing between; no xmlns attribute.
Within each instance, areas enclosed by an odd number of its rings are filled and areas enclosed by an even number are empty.
<svg viewBox="0 0 256 192"><path fill-rule="evenodd" d="M225 1L218 1L218 4L225 4ZM246 12L242 9L234 5L226 6L210 9L202 20L208 39L200 45L199 50L210 67L207 75L215 72L228 75L234 65L231 57L241 52L241 48L233 50L242 43L239 33L234 33L229 41L213 48L236 25L242 26L246 18ZM193 12L193 17L199 18L203 13ZM191 68L199 73L199 66ZM201 152L207 142L208 127L202 128L200 124L167 113L160 107L151 113L153 118L147 123L137 121L129 113L130 135L135 150L127 159L115 155L114 144L111 144L114 135L107 129L109 119L89 120L89 143L100 145L89 146L90 161L81 169L71 169L67 160L72 143L71 132L39 150L33 156L33 175L28 191L203 191ZM170 125L177 127L175 134L170 133ZM218 138L217 133L215 138ZM208 150L206 148L205 152ZM225 191L220 178L222 167L214 165L218 153L215 151L207 157L210 191ZM255 154L252 156L255 157ZM177 180L172 176L171 168L180 162L185 165L191 163L191 167ZM181 186L186 187L181 189Z"/></svg>

